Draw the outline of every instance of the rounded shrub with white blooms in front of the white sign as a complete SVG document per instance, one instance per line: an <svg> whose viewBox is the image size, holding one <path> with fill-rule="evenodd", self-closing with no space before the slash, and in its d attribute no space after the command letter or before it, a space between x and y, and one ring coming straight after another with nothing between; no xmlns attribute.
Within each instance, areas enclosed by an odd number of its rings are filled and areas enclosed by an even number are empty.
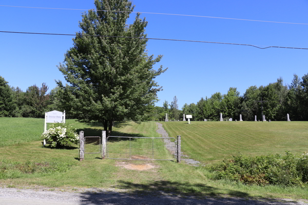
<svg viewBox="0 0 308 205"><path fill-rule="evenodd" d="M76 129L73 129L68 124L55 123L41 135L51 147L64 147L78 144L79 136Z"/></svg>

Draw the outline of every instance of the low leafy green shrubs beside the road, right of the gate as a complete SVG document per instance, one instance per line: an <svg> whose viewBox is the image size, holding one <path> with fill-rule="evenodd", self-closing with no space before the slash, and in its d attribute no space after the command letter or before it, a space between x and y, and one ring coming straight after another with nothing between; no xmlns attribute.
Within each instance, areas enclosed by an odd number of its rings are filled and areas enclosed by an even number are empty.
<svg viewBox="0 0 308 205"><path fill-rule="evenodd" d="M308 153L286 151L266 156L233 156L211 167L215 179L241 181L248 185L308 186Z"/></svg>

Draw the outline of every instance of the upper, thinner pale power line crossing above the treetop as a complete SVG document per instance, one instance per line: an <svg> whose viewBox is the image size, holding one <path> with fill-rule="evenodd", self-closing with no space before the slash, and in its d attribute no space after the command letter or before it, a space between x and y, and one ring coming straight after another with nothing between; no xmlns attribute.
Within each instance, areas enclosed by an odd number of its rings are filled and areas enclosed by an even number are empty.
<svg viewBox="0 0 308 205"><path fill-rule="evenodd" d="M175 15L175 16L190 16L190 17L204 17L204 18L220 18L230 20L248 20L251 22L266 22L266 23L279 23L279 24L299 24L308 25L306 23L291 23L291 22L273 22L270 20L254 20L254 19L243 19L243 18L227 18L227 17L215 17L215 16L200 16L200 15L188 15L188 14L175 14L175 13L155 13L155 12L140 12L140 11L111 11L111 10L95 10L95 9L64 9L64 8L46 8L46 7L22 7L22 6L8 6L0 5L3 7L17 7L17 8L31 8L31 9L60 9L60 10L79 10L79 11L106 11L106 12L131 12L131 13L147 13L147 14L160 14L160 15Z"/></svg>

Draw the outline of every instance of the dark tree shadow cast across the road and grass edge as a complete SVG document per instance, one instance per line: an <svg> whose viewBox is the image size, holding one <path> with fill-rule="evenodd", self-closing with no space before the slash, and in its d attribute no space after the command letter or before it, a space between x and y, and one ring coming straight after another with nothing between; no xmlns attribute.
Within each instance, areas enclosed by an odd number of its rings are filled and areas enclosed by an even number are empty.
<svg viewBox="0 0 308 205"><path fill-rule="evenodd" d="M153 181L149 185L119 181L117 189L127 192L108 192L91 189L81 194L80 204L290 204L278 200L253 200L249 194L227 190L230 198L223 198L217 188L201 183L179 183L171 181ZM133 191L130 191L133 190ZM145 190L145 191L142 191ZM296 204L296 203L294 203Z"/></svg>

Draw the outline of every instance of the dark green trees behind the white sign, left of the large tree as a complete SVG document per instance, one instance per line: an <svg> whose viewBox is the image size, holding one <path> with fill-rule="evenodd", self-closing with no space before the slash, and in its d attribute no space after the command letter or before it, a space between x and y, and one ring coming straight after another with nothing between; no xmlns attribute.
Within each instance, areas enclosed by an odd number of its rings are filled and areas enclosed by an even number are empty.
<svg viewBox="0 0 308 205"><path fill-rule="evenodd" d="M58 88L47 93L48 89L43 83L41 87L30 86L24 92L18 87L10 87L0 76L0 117L44 118L45 112L61 109L57 100Z"/></svg>

